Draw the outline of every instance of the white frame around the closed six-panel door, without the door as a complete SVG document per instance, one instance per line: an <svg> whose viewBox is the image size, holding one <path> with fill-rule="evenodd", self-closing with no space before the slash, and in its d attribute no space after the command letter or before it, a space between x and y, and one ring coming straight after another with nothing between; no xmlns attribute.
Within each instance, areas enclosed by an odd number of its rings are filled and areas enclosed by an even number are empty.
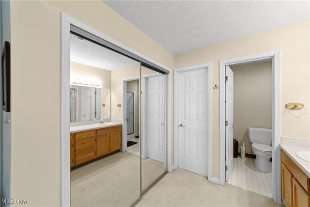
<svg viewBox="0 0 310 207"><path fill-rule="evenodd" d="M191 65L186 67L180 67L174 69L174 169L179 168L179 77L180 73L197 70L197 69L206 69L208 74L208 84L206 90L208 91L208 101L207 101L207 111L208 111L208 126L207 127L207 143L208 148L207 155L208 155L208 180L214 182L214 178L212 177L212 94L211 94L211 83L212 83L212 73L211 73L211 63L204 63L198 65Z"/></svg>

